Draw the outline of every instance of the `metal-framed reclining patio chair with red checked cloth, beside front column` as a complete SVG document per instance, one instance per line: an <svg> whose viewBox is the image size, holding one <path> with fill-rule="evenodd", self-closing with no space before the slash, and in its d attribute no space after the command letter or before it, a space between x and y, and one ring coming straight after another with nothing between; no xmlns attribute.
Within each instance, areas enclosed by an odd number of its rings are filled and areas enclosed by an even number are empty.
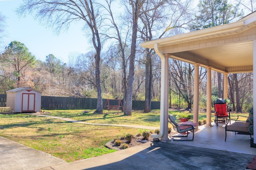
<svg viewBox="0 0 256 170"><path fill-rule="evenodd" d="M182 122L180 124L177 124L175 122L176 118L174 115L168 115L169 117L169 122L172 124L174 131L178 132L178 133L186 133L186 135L178 135L178 136L171 136L173 141L194 141L194 129L196 126L196 123L192 122L192 121L186 121L186 122ZM187 140L183 140L183 139L174 139L174 137L188 137L188 131L191 131L193 133L193 137L192 139L187 139Z"/></svg>

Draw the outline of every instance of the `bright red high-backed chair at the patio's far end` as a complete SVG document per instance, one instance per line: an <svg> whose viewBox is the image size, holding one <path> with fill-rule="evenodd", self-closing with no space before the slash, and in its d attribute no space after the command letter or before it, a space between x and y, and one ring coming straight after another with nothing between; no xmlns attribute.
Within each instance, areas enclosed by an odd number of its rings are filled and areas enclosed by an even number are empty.
<svg viewBox="0 0 256 170"><path fill-rule="evenodd" d="M218 126L218 122L224 122L226 125L230 123L230 111L227 112L227 105L224 104L214 104L215 119L214 123Z"/></svg>

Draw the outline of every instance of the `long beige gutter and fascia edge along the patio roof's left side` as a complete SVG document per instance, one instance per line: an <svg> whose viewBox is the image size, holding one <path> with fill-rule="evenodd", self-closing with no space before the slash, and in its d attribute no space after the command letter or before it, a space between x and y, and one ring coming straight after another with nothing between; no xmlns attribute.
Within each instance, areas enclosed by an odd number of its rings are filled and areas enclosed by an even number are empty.
<svg viewBox="0 0 256 170"><path fill-rule="evenodd" d="M241 28L244 26L244 21L236 21L234 23L228 23L224 25L219 25L216 27L210 27L206 29L201 29L198 31L193 31L189 33L184 33L180 35L174 35L171 37L166 37L166 38L161 38L161 39L156 39L152 41L147 41L144 43L141 43L141 47L149 48L152 49L154 48L154 44L158 43L158 47L161 47L161 44L168 43L175 43L176 41L186 41L189 39L196 39L200 37L205 37L208 35L212 34L218 34L218 33L223 33L223 32L229 32L229 31L236 31L236 29Z"/></svg>

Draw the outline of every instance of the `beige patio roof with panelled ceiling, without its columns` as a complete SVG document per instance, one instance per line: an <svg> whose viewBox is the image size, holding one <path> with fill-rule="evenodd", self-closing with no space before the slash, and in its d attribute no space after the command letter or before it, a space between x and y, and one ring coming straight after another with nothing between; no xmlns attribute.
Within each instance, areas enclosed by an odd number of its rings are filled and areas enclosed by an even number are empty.
<svg viewBox="0 0 256 170"><path fill-rule="evenodd" d="M199 63L218 72L239 73L253 70L253 40L256 39L256 12L234 23L210 27L141 43L166 57Z"/></svg>

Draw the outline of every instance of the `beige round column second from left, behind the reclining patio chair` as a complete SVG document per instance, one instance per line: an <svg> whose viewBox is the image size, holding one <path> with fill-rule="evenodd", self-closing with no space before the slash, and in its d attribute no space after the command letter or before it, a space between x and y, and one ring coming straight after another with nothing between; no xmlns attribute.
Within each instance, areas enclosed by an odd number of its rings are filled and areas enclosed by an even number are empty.
<svg viewBox="0 0 256 170"><path fill-rule="evenodd" d="M199 63L194 64L194 99L193 99L193 122L198 129L198 107L199 107Z"/></svg>

